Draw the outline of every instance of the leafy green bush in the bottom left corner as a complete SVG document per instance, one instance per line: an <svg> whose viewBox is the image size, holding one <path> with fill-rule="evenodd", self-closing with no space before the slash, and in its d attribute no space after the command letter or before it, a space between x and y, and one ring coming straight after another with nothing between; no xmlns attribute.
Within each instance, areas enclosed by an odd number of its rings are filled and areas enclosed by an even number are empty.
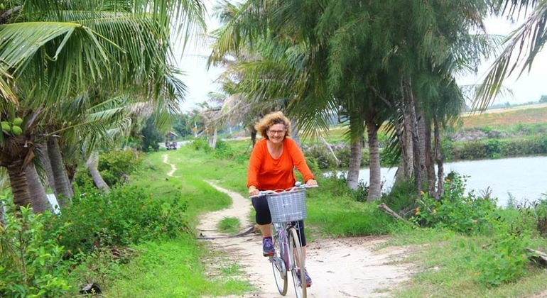
<svg viewBox="0 0 547 298"><path fill-rule="evenodd" d="M6 202L3 202L6 205ZM3 204L0 204L3 205ZM0 297L61 297L70 290L63 246L55 237L65 225L46 231L52 214L13 208L0 226Z"/></svg>

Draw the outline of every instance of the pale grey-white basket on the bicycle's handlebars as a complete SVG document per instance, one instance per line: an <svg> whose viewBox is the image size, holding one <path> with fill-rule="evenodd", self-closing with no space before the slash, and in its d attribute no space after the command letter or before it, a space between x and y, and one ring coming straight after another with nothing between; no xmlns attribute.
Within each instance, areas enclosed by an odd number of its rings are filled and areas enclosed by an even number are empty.
<svg viewBox="0 0 547 298"><path fill-rule="evenodd" d="M306 218L305 190L266 194L273 223L300 221Z"/></svg>

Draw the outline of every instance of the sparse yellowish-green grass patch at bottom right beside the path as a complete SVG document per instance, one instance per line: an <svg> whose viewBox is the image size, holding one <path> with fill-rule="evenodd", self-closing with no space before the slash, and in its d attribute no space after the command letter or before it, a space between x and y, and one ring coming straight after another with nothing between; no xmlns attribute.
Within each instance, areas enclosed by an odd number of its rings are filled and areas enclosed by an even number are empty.
<svg viewBox="0 0 547 298"><path fill-rule="evenodd" d="M386 245L407 245L409 255L403 263L413 263L417 272L394 297L527 297L541 292L547 272L529 266L529 273L518 282L484 287L473 279L477 251L489 243L485 236L461 236L452 231L413 230L401 226Z"/></svg>

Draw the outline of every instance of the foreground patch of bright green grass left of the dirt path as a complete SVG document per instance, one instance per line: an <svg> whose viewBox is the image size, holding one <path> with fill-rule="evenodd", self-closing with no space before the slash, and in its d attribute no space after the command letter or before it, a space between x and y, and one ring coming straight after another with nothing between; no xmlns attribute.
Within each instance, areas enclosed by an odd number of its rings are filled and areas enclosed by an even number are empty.
<svg viewBox="0 0 547 298"><path fill-rule="evenodd" d="M204 297L243 294L251 289L237 265L222 274L207 275L201 262L207 248L193 236L136 247L139 258L126 265L124 279L109 287L109 297ZM233 269L235 268L235 269Z"/></svg>

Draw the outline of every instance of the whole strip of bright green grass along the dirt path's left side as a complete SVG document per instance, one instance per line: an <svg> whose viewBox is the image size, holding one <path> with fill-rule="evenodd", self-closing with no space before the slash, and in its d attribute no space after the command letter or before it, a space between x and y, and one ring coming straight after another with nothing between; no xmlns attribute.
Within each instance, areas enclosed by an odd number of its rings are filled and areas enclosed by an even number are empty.
<svg viewBox="0 0 547 298"><path fill-rule="evenodd" d="M171 167L163 163L164 154L178 169L174 177L166 175ZM151 189L162 199L172 197L186 202L190 224L195 226L199 214L231 204L226 194L213 189L205 180L227 185L242 180L244 168L235 169L232 164L184 146L179 150L148 153L144 169L131 177L131 181ZM122 267L123 278L105 287L104 294L109 297L215 297L251 291L237 264L226 260L215 262L215 266L202 263L202 260L220 257L211 255L205 244L198 243L195 233L188 231L179 239L135 247L139 256ZM217 267L219 264L222 267Z"/></svg>

